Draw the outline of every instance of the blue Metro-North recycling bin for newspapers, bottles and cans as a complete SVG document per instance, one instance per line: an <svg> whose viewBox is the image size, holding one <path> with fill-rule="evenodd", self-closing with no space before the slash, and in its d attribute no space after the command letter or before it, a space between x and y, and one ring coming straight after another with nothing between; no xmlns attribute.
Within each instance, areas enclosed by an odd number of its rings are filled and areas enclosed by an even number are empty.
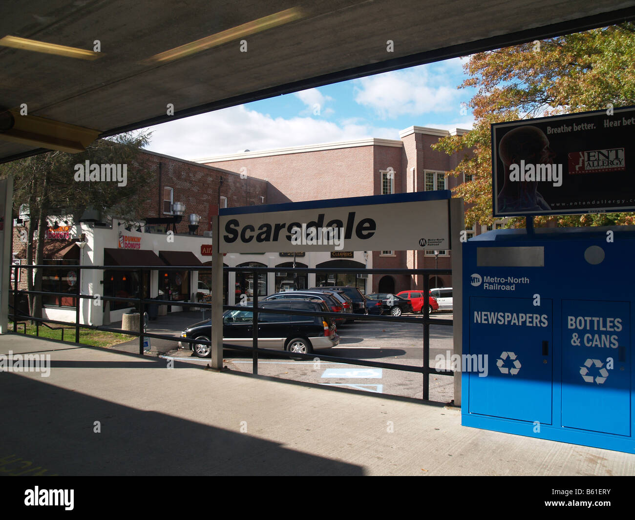
<svg viewBox="0 0 635 520"><path fill-rule="evenodd" d="M464 243L462 424L635 453L634 257L632 226Z"/></svg>

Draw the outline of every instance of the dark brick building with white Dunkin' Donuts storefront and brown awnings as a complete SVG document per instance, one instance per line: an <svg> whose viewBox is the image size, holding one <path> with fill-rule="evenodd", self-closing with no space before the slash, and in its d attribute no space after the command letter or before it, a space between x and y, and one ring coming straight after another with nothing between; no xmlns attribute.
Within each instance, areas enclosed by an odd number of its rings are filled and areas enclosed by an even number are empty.
<svg viewBox="0 0 635 520"><path fill-rule="evenodd" d="M145 290L145 297L163 297L173 302L196 301L208 272L194 269L161 270L166 265L205 265L211 260L211 215L217 206L249 206L267 202L267 182L244 178L233 171L192 163L154 152L141 152L138 163L150 171L149 198L142 203L138 222L126 223L117 215L84 214L79 222L69 215L50 215L44 237L43 291L67 293L46 295L44 317L73 323L77 288L82 294L132 297ZM180 204L178 204L180 203ZM179 214L180 213L180 214ZM190 215L199 219L190 221ZM13 221L13 263L26 263L30 215L27 208ZM190 222L197 228L190 229ZM173 234L169 234L170 230ZM206 247L205 247L206 246ZM34 248L34 244L30 244ZM208 255L208 251L210 253ZM34 255L35 257L35 255ZM135 270L83 270L72 265L150 265L156 267L140 280ZM27 288L27 269L12 271L18 289ZM225 276L227 295L227 276ZM226 298L225 298L226 299ZM21 306L23 309L23 305ZM118 321L130 309L128 303L81 304L81 323L107 324Z"/></svg>

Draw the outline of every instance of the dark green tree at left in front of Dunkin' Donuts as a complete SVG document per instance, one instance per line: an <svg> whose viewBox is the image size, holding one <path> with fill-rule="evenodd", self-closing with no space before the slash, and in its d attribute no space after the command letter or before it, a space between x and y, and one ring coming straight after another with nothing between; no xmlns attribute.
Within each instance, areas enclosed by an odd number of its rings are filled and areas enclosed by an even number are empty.
<svg viewBox="0 0 635 520"><path fill-rule="evenodd" d="M78 154L53 151L0 165L0 177L14 177L14 214L22 204L29 207L27 264L43 264L44 236L50 217L72 215L73 222L79 223L87 208L102 211L104 217L119 217L127 222L142 217L140 211L150 198L153 173L138 164L137 156L149 138L150 133L126 133L98 139ZM119 186L112 180L77 182L75 165L85 165L86 161L90 164L126 164L126 185ZM42 276L42 269L34 269L34 275L28 277L29 291L42 290ZM42 316L41 302L40 295L29 295L31 316Z"/></svg>

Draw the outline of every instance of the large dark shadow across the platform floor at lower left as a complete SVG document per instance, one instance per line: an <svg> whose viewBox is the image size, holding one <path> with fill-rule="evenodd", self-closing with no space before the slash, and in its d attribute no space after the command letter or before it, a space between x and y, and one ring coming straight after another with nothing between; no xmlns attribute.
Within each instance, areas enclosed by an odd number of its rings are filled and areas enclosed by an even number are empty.
<svg viewBox="0 0 635 520"><path fill-rule="evenodd" d="M0 377L0 390L11 415L0 423L4 475L363 474L358 465L11 373ZM209 406L213 415L224 405Z"/></svg>

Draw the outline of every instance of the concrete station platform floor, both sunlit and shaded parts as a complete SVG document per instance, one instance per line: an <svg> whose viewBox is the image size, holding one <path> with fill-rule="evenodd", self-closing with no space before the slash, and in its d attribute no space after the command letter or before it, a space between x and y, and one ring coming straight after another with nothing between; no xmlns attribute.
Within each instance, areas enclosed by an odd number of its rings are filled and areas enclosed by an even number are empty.
<svg viewBox="0 0 635 520"><path fill-rule="evenodd" d="M3 474L635 474L635 455L462 427L435 403L0 336L9 350L51 371L0 373Z"/></svg>

